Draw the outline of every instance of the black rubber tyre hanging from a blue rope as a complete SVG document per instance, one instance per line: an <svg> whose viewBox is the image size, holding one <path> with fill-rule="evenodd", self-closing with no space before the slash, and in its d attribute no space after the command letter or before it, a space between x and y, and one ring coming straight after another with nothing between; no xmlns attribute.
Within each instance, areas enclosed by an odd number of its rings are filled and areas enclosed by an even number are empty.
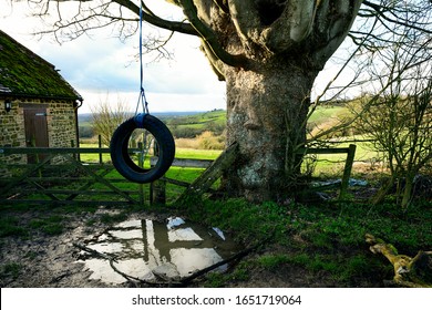
<svg viewBox="0 0 432 310"><path fill-rule="evenodd" d="M128 156L128 140L136 128L148 131L158 146L158 161L151 169L137 166ZM122 123L114 132L110 144L111 161L117 172L134 183L151 183L162 177L174 161L173 135L163 122L150 114L138 114Z"/></svg>

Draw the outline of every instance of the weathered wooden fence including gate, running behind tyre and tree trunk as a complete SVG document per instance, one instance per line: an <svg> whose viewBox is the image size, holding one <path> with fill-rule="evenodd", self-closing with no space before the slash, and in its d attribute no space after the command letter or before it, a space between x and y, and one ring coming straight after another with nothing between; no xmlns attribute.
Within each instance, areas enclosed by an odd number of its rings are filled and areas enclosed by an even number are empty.
<svg viewBox="0 0 432 310"><path fill-rule="evenodd" d="M138 151L137 151L138 152ZM220 177L224 167L229 166L237 153L236 145L227 148L216 161L175 158L173 166L207 168L192 184L163 177L150 186L134 184L114 172L114 166L102 161L110 148L0 148L0 205L29 204L96 204L96 205L144 205L146 192L151 204L166 202L166 184L185 187L177 202L186 197L212 190L213 183ZM348 185L356 145L341 148L304 148L299 154L347 154L339 197L343 198ZM99 154L99 163L83 163L83 154ZM34 164L6 164L2 156L35 155ZM43 155L43 156L42 156ZM155 163L157 158L152 158ZM110 198L110 199L107 199Z"/></svg>

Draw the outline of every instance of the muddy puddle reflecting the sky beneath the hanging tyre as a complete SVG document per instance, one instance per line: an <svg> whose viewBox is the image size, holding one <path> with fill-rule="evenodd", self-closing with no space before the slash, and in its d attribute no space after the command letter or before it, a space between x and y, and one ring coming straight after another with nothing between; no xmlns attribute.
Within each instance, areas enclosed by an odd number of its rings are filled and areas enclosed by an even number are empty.
<svg viewBox="0 0 432 310"><path fill-rule="evenodd" d="M115 257L114 266L128 276L152 281L191 276L238 252L240 248L218 228L207 229L172 217L165 223L142 219L121 223L85 242L90 249ZM92 271L90 279L123 283L110 261L82 252L79 262ZM215 270L225 270L227 265Z"/></svg>

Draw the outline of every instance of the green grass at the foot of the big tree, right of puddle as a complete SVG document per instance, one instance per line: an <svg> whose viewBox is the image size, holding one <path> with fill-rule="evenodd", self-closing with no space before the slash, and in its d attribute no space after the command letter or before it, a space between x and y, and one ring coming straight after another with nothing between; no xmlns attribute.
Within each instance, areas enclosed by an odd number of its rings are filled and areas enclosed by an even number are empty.
<svg viewBox="0 0 432 310"><path fill-rule="evenodd" d="M432 245L431 204L416 204L403 211L392 204L280 206L229 199L195 204L187 211L195 220L232 231L247 246L261 244L279 249L249 259L241 273L254 268L279 272L281 268L298 266L302 272L323 275L327 281L336 281L338 286L380 286L383 279L392 278L392 266L369 251L364 241L367 232L412 257ZM233 280L229 276L213 276L208 286L223 286L224 281Z"/></svg>

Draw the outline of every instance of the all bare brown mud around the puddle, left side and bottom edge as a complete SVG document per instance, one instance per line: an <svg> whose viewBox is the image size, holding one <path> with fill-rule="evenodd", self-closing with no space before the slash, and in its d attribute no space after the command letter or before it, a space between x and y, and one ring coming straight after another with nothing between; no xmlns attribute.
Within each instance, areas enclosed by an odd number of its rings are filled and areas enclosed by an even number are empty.
<svg viewBox="0 0 432 310"><path fill-rule="evenodd" d="M2 211L2 218L20 218L19 225L28 229L29 235L3 236L0 238L0 287L19 288L115 288L115 287L145 287L145 283L126 281L124 283L109 283L90 279L92 271L86 269L82 259L83 251L74 244L85 244L96 235L103 234L113 223L104 224L100 219L104 215L119 214L121 209L100 207L95 213L79 215L63 215L62 232L47 234L31 228L34 218L43 218L45 210L31 209L25 213L14 213L12 208ZM148 213L132 213L127 219L162 219L166 215ZM34 226L34 225L33 225ZM266 249L265 251L277 251ZM260 252L263 254L263 252ZM260 254L251 252L244 259L254 258ZM235 266L234 266L235 267ZM229 272L229 270L228 270ZM226 287L332 287L336 283L328 280L320 281L312 275L289 268L270 272L264 269L253 270L247 280L240 279L226 283ZM130 275L134 276L134 275ZM168 286L168 285L167 285ZM205 278L200 277L188 285L189 287L205 287ZM163 287L163 286L162 286Z"/></svg>

